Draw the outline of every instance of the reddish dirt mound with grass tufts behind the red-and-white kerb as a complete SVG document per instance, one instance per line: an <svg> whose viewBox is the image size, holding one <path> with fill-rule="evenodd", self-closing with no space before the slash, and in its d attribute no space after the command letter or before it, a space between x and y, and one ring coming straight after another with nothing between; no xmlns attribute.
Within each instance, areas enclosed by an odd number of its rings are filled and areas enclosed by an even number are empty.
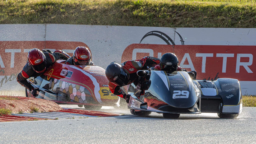
<svg viewBox="0 0 256 144"><path fill-rule="evenodd" d="M0 96L0 108L10 109L12 113L30 113L35 109L37 112L62 110L58 104L46 99L15 96Z"/></svg>

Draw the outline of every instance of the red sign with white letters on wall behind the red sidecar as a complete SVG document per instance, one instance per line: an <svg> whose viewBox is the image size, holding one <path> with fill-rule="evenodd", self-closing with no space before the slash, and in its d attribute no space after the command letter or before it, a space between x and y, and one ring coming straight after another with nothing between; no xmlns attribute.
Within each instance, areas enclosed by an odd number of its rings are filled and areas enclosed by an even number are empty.
<svg viewBox="0 0 256 144"><path fill-rule="evenodd" d="M0 41L0 75L19 73L27 62L30 49L63 50L72 56L78 46L89 48L83 42L73 41Z"/></svg>

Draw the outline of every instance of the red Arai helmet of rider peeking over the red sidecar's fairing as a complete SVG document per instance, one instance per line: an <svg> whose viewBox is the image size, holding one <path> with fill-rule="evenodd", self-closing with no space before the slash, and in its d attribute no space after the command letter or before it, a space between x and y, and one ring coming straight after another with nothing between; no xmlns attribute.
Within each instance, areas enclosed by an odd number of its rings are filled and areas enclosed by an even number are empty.
<svg viewBox="0 0 256 144"><path fill-rule="evenodd" d="M89 65L91 58L91 53L86 47L77 47L73 53L75 65Z"/></svg>

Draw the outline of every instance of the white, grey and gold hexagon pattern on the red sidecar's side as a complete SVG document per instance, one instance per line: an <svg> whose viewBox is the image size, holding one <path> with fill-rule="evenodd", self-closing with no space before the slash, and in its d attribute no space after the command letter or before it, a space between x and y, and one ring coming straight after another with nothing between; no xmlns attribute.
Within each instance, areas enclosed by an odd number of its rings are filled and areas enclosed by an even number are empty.
<svg viewBox="0 0 256 144"><path fill-rule="evenodd" d="M95 103L89 90L83 86L71 84L61 80L50 80L49 88L58 93L59 91L70 96L70 100L78 103Z"/></svg>

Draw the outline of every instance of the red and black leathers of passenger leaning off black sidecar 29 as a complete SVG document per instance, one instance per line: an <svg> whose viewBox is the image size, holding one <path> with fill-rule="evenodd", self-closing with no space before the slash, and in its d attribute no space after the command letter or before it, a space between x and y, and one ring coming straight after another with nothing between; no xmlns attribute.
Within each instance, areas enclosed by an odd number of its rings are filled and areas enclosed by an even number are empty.
<svg viewBox="0 0 256 144"><path fill-rule="evenodd" d="M126 73L128 74L128 84L131 84L133 82L136 82L136 80L138 79L138 75L137 75L137 71L138 70L147 70L148 67L154 67L155 65L160 63L160 59L155 58L155 57L144 57L141 60L131 60L131 61L126 61L124 63L122 63L122 68L126 71ZM115 84L113 84L112 82L109 82L109 89L110 91L115 94L118 95L122 98L124 98L123 94L120 93L120 87L121 86L117 86Z"/></svg>

